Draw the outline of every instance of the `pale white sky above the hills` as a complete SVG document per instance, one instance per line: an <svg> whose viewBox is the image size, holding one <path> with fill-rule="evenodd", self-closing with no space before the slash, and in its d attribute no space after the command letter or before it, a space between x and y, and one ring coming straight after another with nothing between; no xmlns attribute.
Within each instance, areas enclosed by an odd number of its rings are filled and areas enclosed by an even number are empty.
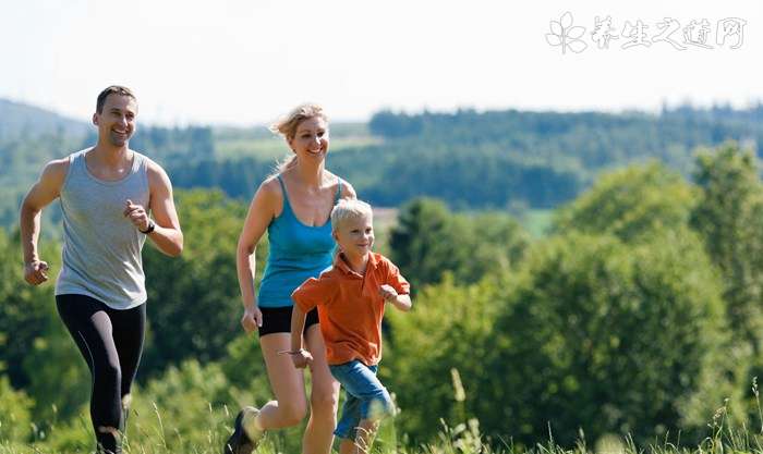
<svg viewBox="0 0 763 454"><path fill-rule="evenodd" d="M617 38L600 48L606 16ZM729 17L741 33L718 45ZM547 40L552 21L566 46ZM81 120L111 84L161 125L263 124L305 101L339 121L380 109L741 108L763 100L762 56L763 2L750 0L0 0L0 98Z"/></svg>

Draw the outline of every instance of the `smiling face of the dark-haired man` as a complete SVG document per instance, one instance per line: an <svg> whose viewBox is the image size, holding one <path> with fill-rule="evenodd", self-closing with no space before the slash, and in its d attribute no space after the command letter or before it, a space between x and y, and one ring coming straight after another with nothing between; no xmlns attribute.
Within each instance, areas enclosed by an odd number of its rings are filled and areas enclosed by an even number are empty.
<svg viewBox="0 0 763 454"><path fill-rule="evenodd" d="M104 109L93 114L93 124L98 126L98 142L114 147L124 147L135 133L137 103L130 96L111 94Z"/></svg>

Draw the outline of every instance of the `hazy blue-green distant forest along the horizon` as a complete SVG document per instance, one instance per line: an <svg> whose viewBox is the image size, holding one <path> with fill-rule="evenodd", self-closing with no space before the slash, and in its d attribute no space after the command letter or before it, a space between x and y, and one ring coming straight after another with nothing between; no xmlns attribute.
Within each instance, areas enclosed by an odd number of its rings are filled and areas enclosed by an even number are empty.
<svg viewBox="0 0 763 454"><path fill-rule="evenodd" d="M19 106L0 111L34 119ZM0 224L13 221L23 192L49 159L84 148L95 131L33 110L47 121L0 125ZM51 120L52 119L52 120ZM64 122L57 126L56 121ZM444 200L457 210L548 209L573 199L602 170L657 160L687 174L698 147L736 140L760 152L763 106L664 109L643 112L523 112L459 110L417 114L382 111L367 124L335 125L332 138L366 136L329 154L329 170L350 181L375 206L398 207L417 196ZM33 124L39 124L35 131ZM44 127L43 127L44 126ZM81 125L82 126L82 125ZM220 152L221 140L244 151ZM264 127L140 127L131 147L161 162L177 187L217 187L249 198L272 172L274 154L257 152L269 140ZM251 144L251 152L247 146ZM283 156L288 148L282 146Z"/></svg>

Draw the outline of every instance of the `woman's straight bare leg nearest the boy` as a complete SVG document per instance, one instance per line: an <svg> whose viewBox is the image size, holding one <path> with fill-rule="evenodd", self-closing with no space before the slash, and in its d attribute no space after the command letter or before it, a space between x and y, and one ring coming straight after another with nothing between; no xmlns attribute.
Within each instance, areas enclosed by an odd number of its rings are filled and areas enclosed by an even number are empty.
<svg viewBox="0 0 763 454"><path fill-rule="evenodd" d="M303 454L328 454L334 442L337 426L339 382L334 379L326 361L326 344L320 334L320 326L307 328L305 343L313 355L310 366L312 390L310 395L310 420L302 440Z"/></svg>

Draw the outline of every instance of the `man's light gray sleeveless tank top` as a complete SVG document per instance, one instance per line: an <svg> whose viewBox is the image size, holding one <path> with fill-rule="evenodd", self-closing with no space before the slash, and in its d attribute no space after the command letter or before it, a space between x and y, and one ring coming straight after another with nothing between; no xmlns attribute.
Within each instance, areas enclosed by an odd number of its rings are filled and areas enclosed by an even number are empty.
<svg viewBox="0 0 763 454"><path fill-rule="evenodd" d="M95 177L85 152L69 157L59 200L63 213L63 266L56 294L92 296L114 309L146 302L141 249L146 235L123 216L125 200L148 207L148 158L133 152L130 174L119 181Z"/></svg>

